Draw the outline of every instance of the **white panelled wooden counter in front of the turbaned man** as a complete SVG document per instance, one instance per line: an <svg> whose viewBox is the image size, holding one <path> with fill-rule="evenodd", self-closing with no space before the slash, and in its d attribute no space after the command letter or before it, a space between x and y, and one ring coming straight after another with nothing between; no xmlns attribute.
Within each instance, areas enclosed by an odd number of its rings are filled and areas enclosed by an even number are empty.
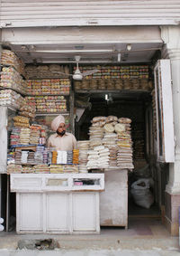
<svg viewBox="0 0 180 256"><path fill-rule="evenodd" d="M76 181L78 179L78 181ZM82 185L95 180L95 185ZM103 174L12 174L16 232L99 233Z"/></svg>

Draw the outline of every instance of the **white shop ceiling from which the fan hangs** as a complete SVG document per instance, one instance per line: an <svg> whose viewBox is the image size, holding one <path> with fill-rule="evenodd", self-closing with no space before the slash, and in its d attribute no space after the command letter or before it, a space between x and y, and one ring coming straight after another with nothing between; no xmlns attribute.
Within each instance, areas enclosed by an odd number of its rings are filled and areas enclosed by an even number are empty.
<svg viewBox="0 0 180 256"><path fill-rule="evenodd" d="M151 62L163 43L11 44L25 63L136 63ZM127 46L129 45L129 50ZM118 55L118 53L120 53ZM119 56L119 57L118 57ZM118 59L119 58L119 59Z"/></svg>

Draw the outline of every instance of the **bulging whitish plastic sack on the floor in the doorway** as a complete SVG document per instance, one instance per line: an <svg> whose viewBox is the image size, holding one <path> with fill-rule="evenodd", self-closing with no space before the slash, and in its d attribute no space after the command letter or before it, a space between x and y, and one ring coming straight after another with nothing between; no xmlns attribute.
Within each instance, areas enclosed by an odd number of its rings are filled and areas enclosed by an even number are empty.
<svg viewBox="0 0 180 256"><path fill-rule="evenodd" d="M147 209L154 203L154 197L149 186L148 179L139 179L131 185L130 189L135 204Z"/></svg>

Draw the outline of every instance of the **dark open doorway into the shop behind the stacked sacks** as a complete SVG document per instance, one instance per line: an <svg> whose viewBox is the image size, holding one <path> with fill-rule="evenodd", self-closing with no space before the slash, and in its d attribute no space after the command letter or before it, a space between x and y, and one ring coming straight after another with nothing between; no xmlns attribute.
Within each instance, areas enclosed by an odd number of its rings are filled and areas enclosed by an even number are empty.
<svg viewBox="0 0 180 256"><path fill-rule="evenodd" d="M153 79L153 77L151 77ZM91 82L91 81L90 81ZM153 83L153 81L152 81ZM78 86L78 84L77 84ZM154 87L154 83L152 85ZM76 83L75 83L76 88ZM80 118L76 119L76 137L89 139L89 127L94 117L115 116L131 119L131 139L133 143L134 170L128 173L128 215L129 217L161 218L164 204L167 166L157 166L155 94L150 90L88 90L76 92L75 106L80 107ZM153 118L154 117L154 118ZM149 192L154 198L150 206L139 206L130 192L131 185L139 179L150 182ZM143 185L143 184L142 184ZM159 190L159 187L161 189ZM146 199L145 199L146 201ZM162 204L162 205L161 205Z"/></svg>

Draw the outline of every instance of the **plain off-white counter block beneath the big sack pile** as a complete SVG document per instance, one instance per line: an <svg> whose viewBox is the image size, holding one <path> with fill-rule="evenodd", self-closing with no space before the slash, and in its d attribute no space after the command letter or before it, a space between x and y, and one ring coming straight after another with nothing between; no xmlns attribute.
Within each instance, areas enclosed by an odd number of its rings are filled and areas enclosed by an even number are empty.
<svg viewBox="0 0 180 256"><path fill-rule="evenodd" d="M105 190L100 193L100 225L128 227L128 170L105 170Z"/></svg>

